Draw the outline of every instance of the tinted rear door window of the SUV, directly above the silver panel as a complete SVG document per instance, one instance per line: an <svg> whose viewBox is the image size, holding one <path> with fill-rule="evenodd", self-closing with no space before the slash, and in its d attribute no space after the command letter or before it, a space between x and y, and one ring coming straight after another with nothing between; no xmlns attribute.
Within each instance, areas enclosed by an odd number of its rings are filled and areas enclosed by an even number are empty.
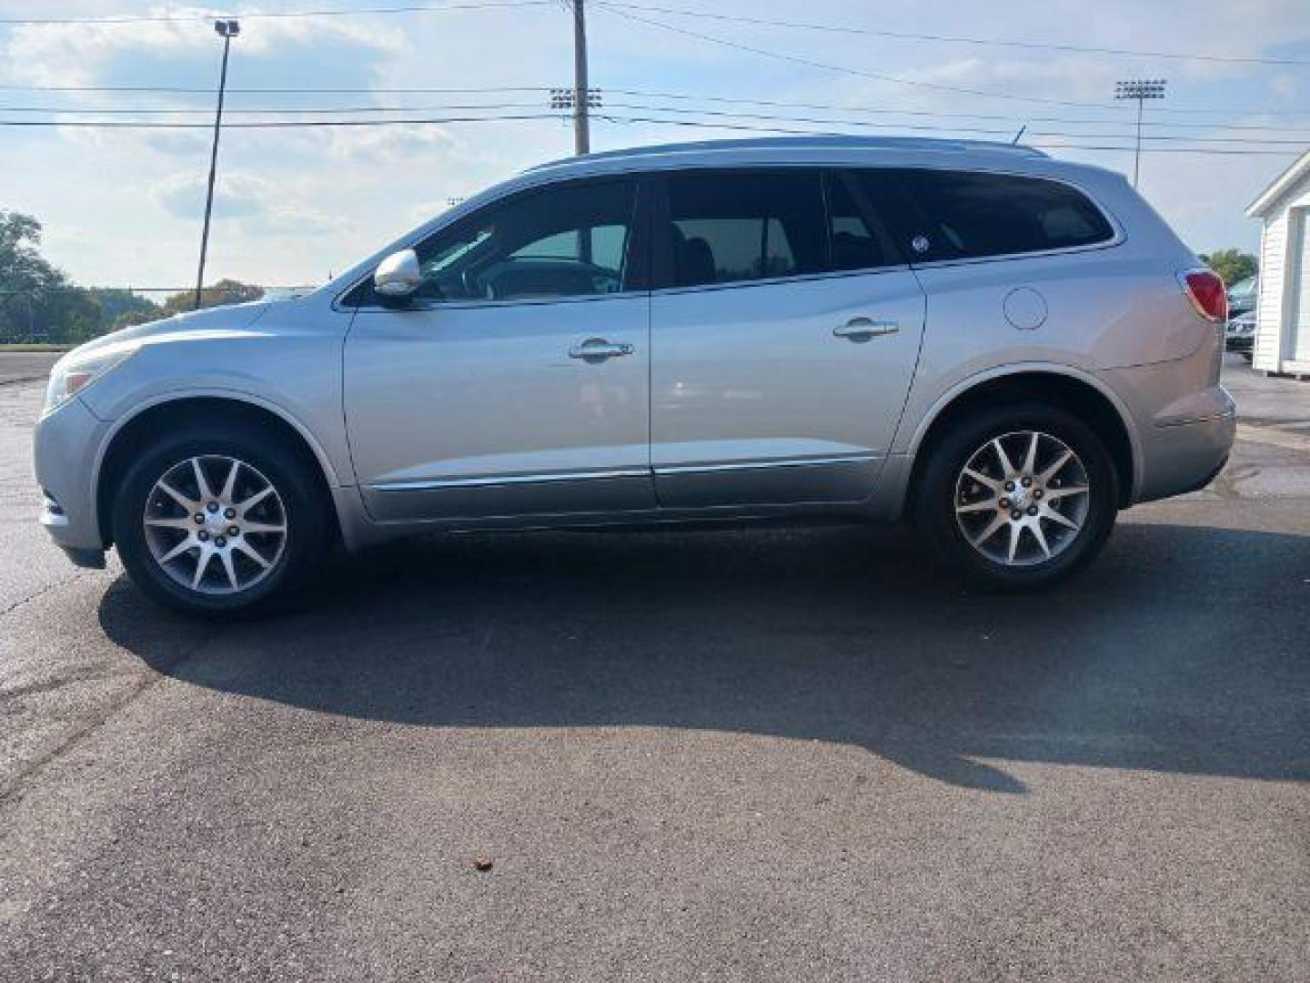
<svg viewBox="0 0 1310 983"><path fill-rule="evenodd" d="M820 273L825 265L817 172L675 174L668 178L669 286Z"/></svg>

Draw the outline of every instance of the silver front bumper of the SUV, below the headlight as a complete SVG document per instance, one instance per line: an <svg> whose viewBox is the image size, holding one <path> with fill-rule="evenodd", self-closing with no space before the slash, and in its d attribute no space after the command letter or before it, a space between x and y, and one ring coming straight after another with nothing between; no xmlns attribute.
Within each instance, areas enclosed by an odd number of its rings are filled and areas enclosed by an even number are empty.
<svg viewBox="0 0 1310 983"><path fill-rule="evenodd" d="M80 566L103 565L105 541L96 514L96 451L109 425L69 400L37 423L33 463L43 503L41 524Z"/></svg>

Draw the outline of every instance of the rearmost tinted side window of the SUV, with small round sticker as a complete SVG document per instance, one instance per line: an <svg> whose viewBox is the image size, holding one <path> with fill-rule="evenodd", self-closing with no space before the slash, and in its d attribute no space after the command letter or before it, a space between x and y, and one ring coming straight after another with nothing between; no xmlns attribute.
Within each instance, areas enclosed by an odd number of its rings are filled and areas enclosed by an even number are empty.
<svg viewBox="0 0 1310 983"><path fill-rule="evenodd" d="M963 170L891 170L908 203L897 237L912 258L950 260L1104 242L1114 229L1086 195L1057 181ZM865 173L861 182L875 181ZM910 244L916 237L926 249ZM922 245L922 241L918 242Z"/></svg>

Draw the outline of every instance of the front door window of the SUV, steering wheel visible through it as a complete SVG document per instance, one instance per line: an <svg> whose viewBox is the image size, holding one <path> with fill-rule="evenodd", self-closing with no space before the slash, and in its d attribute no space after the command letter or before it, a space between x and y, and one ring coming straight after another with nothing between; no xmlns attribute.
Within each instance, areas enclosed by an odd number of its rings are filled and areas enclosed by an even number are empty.
<svg viewBox="0 0 1310 983"><path fill-rule="evenodd" d="M428 300L525 300L629 288L630 182L580 183L491 204L418 246Z"/></svg>

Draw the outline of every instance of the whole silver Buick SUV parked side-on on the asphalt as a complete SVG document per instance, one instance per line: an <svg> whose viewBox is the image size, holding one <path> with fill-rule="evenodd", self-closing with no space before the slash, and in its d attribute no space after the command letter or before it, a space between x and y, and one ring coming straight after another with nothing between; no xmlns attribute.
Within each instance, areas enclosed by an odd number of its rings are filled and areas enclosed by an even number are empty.
<svg viewBox="0 0 1310 983"><path fill-rule="evenodd" d="M1024 147L647 147L528 170L307 296L64 357L42 522L193 612L419 531L909 519L1065 577L1227 457L1225 294L1119 174Z"/></svg>

